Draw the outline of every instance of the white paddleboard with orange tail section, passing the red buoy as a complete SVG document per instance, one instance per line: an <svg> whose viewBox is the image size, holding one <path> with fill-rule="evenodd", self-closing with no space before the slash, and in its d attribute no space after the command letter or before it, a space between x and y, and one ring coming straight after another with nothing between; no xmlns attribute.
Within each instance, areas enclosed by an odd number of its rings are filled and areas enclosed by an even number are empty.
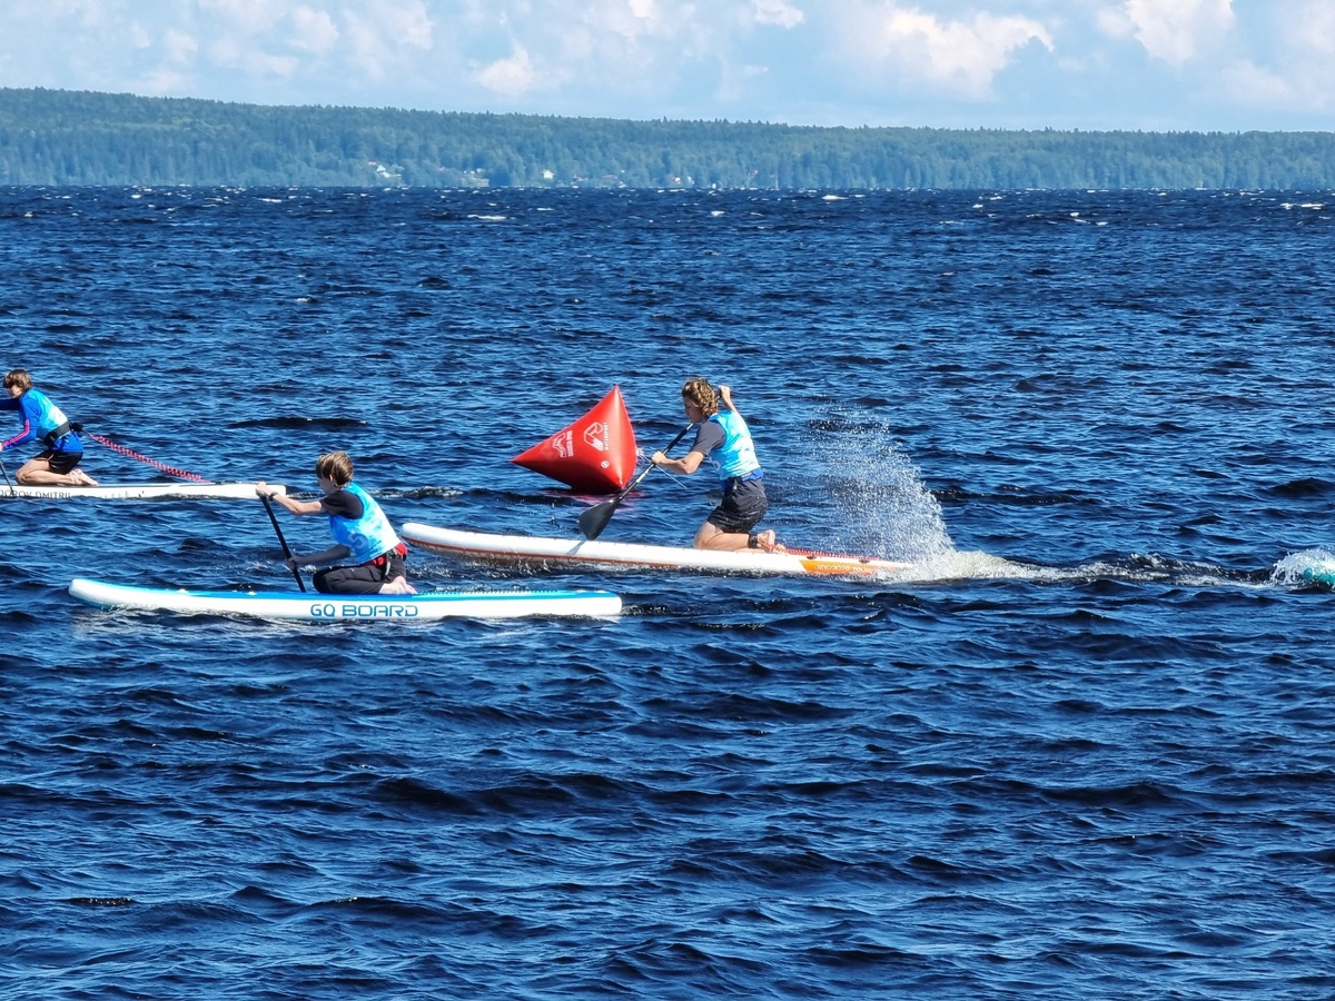
<svg viewBox="0 0 1335 1001"><path fill-rule="evenodd" d="M533 535L489 535L457 529L407 522L403 541L431 553L445 553L485 562L529 562L563 565L622 566L635 570L673 569L741 574L825 574L834 577L876 577L912 569L872 557L788 550L708 550L682 546L643 546L629 542L590 539L549 539Z"/></svg>

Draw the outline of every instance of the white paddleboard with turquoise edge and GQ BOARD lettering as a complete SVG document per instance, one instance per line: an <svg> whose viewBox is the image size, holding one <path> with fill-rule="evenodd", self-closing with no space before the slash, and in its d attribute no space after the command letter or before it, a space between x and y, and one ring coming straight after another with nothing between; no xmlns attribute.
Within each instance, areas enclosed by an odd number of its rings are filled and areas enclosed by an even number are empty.
<svg viewBox="0 0 1335 1001"><path fill-rule="evenodd" d="M69 582L69 594L103 609L248 615L306 622L342 619L430 622L446 618L513 619L539 615L601 618L621 614L621 598L610 591L426 591L411 595L191 591L135 587L76 577Z"/></svg>

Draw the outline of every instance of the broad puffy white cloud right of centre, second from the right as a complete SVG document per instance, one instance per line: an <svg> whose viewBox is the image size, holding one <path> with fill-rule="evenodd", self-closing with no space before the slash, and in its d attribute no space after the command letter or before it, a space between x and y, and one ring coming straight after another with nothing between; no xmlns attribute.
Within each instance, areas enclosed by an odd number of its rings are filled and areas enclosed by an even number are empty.
<svg viewBox="0 0 1335 1001"><path fill-rule="evenodd" d="M985 97L1013 53L1037 41L1053 49L1043 23L1016 15L972 13L948 20L896 0L868 4L846 23L846 47L856 61L908 88Z"/></svg>

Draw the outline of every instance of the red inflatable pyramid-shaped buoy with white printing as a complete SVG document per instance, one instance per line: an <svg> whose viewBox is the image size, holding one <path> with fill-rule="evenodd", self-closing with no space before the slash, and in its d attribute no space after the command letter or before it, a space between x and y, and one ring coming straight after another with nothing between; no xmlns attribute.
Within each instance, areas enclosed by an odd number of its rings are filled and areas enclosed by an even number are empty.
<svg viewBox="0 0 1335 1001"><path fill-rule="evenodd" d="M510 462L587 494L622 490L635 472L635 432L621 387L582 418Z"/></svg>

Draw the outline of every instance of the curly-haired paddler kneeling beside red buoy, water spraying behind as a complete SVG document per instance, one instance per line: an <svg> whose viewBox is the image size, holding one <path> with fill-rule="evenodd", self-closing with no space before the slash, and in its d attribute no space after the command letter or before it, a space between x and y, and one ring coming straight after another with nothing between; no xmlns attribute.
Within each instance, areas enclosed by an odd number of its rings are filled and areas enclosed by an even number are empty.
<svg viewBox="0 0 1335 1001"><path fill-rule="evenodd" d="M782 551L773 529L754 531L769 510L765 472L756 458L750 430L733 406L732 391L720 386L714 392L709 379L688 379L681 387L681 403L686 419L700 424L694 443L680 459L654 452L649 460L669 472L688 476L700 468L706 456L718 463L724 498L696 533L696 549Z"/></svg>

